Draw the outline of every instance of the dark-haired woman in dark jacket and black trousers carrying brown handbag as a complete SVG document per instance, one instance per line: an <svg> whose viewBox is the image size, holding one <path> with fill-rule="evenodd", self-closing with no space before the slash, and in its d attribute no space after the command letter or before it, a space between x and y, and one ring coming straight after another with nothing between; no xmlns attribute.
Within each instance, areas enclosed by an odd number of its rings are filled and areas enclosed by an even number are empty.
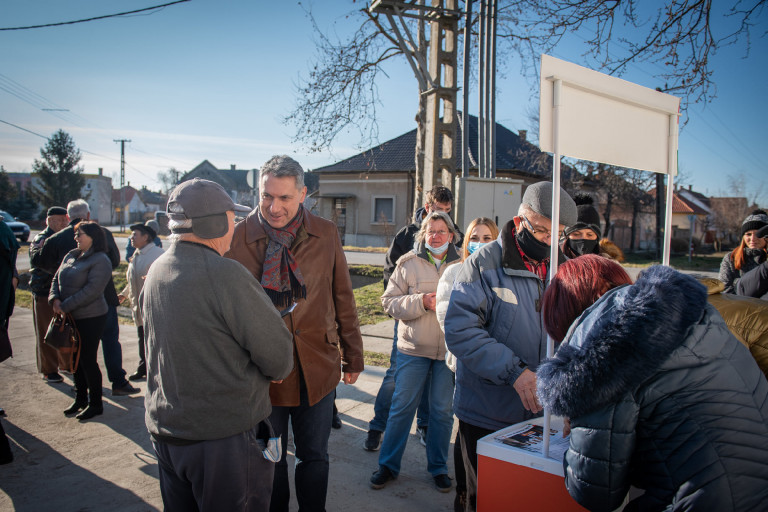
<svg viewBox="0 0 768 512"><path fill-rule="evenodd" d="M56 315L69 313L80 333L80 363L75 371L75 401L64 414L81 421L104 412L101 401L101 370L96 360L99 340L107 320L104 288L112 279L112 263L107 256L107 241L98 224L82 221L75 225L77 248L64 256L53 276L48 302Z"/></svg>

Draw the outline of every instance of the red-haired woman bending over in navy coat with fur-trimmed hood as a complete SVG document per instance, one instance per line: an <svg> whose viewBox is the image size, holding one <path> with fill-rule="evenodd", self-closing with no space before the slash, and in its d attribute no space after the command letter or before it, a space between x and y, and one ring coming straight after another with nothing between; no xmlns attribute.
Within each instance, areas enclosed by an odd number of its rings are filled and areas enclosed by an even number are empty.
<svg viewBox="0 0 768 512"><path fill-rule="evenodd" d="M764 510L768 381L707 303L669 267L635 284L596 255L565 262L544 293L562 341L537 372L540 402L570 419L565 484L589 510Z"/></svg>

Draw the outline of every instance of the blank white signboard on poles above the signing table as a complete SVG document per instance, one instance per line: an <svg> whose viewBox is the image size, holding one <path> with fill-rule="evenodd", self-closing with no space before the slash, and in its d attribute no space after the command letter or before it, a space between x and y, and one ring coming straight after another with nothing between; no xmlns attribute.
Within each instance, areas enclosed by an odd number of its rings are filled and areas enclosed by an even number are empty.
<svg viewBox="0 0 768 512"><path fill-rule="evenodd" d="M561 80L559 154L619 167L677 174L669 161L670 115L680 99L549 55L541 57L539 143L555 153L554 81ZM674 123L677 130L677 123Z"/></svg>

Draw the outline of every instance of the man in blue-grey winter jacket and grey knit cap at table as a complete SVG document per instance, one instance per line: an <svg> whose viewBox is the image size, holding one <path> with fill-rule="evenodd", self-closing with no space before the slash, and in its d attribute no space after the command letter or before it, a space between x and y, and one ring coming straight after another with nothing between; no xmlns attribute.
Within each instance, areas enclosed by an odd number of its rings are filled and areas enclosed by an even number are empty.
<svg viewBox="0 0 768 512"><path fill-rule="evenodd" d="M561 188L561 224L552 226L552 190L547 181L526 189L517 216L496 243L462 264L451 292L445 343L457 359L453 408L466 471L466 510L475 510L477 501L477 441L542 410L535 372L547 350L540 301L550 246L577 220L576 203ZM562 253L559 258L565 260Z"/></svg>

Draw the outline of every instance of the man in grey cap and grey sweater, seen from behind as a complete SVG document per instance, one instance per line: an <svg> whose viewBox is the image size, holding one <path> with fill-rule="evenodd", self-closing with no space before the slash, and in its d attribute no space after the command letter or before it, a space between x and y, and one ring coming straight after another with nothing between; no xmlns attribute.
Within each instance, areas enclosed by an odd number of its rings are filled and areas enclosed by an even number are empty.
<svg viewBox="0 0 768 512"><path fill-rule="evenodd" d="M223 254L235 204L194 179L168 199L171 247L141 291L145 423L166 510L269 510L279 442L271 381L293 369L291 334L259 282Z"/></svg>

